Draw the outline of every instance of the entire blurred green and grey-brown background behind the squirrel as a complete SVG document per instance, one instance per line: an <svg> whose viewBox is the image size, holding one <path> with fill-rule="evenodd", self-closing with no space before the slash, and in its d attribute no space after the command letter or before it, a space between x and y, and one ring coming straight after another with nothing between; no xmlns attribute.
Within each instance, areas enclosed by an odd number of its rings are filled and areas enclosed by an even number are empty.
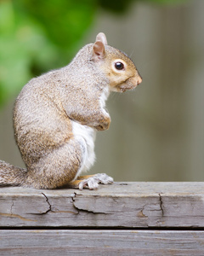
<svg viewBox="0 0 204 256"><path fill-rule="evenodd" d="M24 166L14 98L32 77L67 65L105 32L143 83L112 93L90 173L123 181L204 181L204 1L0 1L0 159Z"/></svg>

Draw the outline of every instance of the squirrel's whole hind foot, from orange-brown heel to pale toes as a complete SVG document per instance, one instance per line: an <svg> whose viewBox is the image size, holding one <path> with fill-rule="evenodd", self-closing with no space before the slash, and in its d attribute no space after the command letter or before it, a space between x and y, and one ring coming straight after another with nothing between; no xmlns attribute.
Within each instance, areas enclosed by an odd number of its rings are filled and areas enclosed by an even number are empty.
<svg viewBox="0 0 204 256"><path fill-rule="evenodd" d="M86 175L77 177L76 180L69 183L69 187L82 190L85 187L88 189L97 189L99 183L111 184L113 183L113 178L105 173L97 173L94 175Z"/></svg>

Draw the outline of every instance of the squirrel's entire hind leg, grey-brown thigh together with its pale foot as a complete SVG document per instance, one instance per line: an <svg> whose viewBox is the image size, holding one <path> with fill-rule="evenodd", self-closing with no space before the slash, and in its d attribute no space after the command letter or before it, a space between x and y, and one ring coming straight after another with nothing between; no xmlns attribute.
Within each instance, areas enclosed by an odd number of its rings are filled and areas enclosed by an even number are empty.
<svg viewBox="0 0 204 256"><path fill-rule="evenodd" d="M23 185L36 189L57 189L66 186L97 189L99 183L113 182L111 177L100 173L80 177L81 179L78 180L78 175L93 164L94 157L88 157L88 146L85 140L82 137L72 138L33 163L31 168L28 168L26 182Z"/></svg>

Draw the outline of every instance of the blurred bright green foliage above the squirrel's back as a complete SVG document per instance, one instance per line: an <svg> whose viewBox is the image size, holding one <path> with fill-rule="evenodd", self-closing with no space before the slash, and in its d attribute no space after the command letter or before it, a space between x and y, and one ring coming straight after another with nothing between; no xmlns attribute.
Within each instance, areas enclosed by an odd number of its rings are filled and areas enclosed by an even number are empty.
<svg viewBox="0 0 204 256"><path fill-rule="evenodd" d="M121 13L133 1L0 0L0 105L31 77L66 65L99 7Z"/></svg>

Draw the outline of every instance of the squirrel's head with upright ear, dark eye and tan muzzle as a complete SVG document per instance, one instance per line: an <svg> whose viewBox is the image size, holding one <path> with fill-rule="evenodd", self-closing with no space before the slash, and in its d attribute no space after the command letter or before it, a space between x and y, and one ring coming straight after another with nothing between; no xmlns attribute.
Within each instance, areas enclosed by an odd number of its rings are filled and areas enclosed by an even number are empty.
<svg viewBox="0 0 204 256"><path fill-rule="evenodd" d="M109 79L112 91L130 90L142 82L133 61L119 49L108 45L102 32L97 35L93 45L93 61Z"/></svg>

